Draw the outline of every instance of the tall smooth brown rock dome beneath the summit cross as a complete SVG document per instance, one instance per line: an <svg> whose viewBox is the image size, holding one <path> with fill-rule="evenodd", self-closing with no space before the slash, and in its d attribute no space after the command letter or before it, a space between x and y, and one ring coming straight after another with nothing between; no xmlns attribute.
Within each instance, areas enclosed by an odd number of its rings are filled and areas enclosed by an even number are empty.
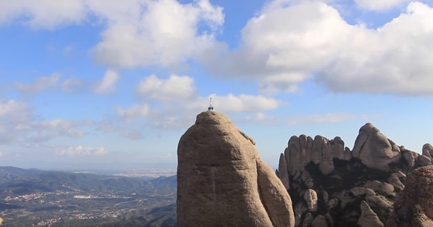
<svg viewBox="0 0 433 227"><path fill-rule="evenodd" d="M178 146L178 226L294 226L292 201L251 137L214 111Z"/></svg>

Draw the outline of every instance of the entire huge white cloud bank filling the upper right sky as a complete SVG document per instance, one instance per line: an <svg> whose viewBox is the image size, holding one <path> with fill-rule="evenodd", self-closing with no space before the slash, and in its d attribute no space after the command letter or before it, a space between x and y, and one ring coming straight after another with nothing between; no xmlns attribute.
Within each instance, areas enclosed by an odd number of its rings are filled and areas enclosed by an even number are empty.
<svg viewBox="0 0 433 227"><path fill-rule="evenodd" d="M320 1L272 4L247 22L237 49L219 43L200 59L214 75L255 79L263 93L294 92L314 77L336 92L431 95L432 19L433 8L411 2L368 29Z"/></svg>

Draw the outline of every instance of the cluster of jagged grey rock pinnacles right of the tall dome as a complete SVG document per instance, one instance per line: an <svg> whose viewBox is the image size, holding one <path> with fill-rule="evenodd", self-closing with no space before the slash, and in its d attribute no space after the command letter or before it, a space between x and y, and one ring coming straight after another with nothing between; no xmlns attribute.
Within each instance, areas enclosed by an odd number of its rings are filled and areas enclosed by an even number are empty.
<svg viewBox="0 0 433 227"><path fill-rule="evenodd" d="M276 173L292 198L295 226L325 221L326 226L368 226L372 221L383 226L406 174L432 164L432 157L430 144L418 155L368 123L359 130L352 151L338 136L292 136ZM317 195L317 210L311 210L311 191Z"/></svg>

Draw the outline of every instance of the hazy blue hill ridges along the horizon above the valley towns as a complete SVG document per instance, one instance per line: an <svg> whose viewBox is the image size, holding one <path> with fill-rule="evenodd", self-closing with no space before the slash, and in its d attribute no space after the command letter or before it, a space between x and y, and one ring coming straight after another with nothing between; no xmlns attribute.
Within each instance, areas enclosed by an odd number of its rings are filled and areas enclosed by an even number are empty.
<svg viewBox="0 0 433 227"><path fill-rule="evenodd" d="M175 184L175 176L149 180L149 178L126 178L0 166L1 197L56 190L135 191L144 194L159 191L159 193L167 194L173 192Z"/></svg>

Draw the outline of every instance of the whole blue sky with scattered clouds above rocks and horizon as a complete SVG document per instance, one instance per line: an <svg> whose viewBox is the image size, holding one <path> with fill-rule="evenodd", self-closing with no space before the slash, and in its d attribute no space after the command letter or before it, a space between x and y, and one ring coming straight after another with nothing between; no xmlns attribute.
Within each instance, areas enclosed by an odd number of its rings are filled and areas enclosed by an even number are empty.
<svg viewBox="0 0 433 227"><path fill-rule="evenodd" d="M0 165L175 164L213 97L292 135L433 143L433 0L0 1Z"/></svg>

